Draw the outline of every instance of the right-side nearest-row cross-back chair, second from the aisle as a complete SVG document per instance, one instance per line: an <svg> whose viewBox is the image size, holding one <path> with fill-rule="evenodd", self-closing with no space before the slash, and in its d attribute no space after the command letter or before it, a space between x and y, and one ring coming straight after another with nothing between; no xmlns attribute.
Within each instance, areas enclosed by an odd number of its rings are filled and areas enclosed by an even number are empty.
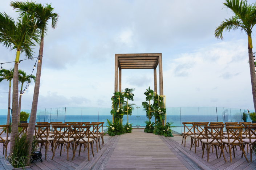
<svg viewBox="0 0 256 170"><path fill-rule="evenodd" d="M233 148L233 156L235 158L235 146L240 147L240 149L243 152L241 157L243 157L243 155L244 155L247 162L249 162L245 155L245 152L244 152L243 140L242 140L242 136L241 136L243 128L244 128L243 126L227 126L226 127L228 139L223 139L222 142L224 145L228 145L230 163L232 163L232 158L231 158L231 149L232 148ZM239 133L237 134L237 132L239 132ZM232 138L230 136L232 136Z"/></svg>

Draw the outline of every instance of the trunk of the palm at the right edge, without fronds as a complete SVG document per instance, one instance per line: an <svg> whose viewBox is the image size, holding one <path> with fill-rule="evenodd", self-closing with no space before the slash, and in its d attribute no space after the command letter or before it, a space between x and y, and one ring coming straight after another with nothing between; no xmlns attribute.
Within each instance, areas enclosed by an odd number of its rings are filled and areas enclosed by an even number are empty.
<svg viewBox="0 0 256 170"><path fill-rule="evenodd" d="M252 54L252 37L251 34L248 34L248 52L249 52L249 65L251 73L251 83L252 83L252 97L254 109L256 110L256 74L255 74L255 63L253 60Z"/></svg>

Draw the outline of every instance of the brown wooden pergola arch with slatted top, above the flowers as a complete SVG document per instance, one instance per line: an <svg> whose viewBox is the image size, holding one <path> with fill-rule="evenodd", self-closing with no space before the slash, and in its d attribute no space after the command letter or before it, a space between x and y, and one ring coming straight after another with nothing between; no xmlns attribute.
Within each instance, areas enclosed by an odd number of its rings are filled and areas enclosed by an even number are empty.
<svg viewBox="0 0 256 170"><path fill-rule="evenodd" d="M115 54L115 92L122 91L122 69L154 69L154 92L157 93L157 66L159 65L159 93L163 95L162 53ZM119 70L118 70L119 68ZM119 75L119 81L118 81Z"/></svg>

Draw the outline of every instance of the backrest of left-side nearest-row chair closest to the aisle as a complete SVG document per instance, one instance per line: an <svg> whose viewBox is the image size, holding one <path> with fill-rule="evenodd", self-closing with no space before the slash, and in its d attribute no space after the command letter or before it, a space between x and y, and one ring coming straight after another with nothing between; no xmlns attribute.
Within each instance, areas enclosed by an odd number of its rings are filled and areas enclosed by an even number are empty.
<svg viewBox="0 0 256 170"><path fill-rule="evenodd" d="M89 136L93 135L92 132L90 132L90 127L91 126L73 126L76 143L89 143Z"/></svg>

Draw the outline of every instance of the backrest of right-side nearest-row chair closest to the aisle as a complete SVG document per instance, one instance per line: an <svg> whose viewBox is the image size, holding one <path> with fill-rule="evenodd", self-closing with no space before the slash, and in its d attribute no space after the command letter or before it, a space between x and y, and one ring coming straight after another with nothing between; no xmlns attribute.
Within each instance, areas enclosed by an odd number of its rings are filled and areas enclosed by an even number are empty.
<svg viewBox="0 0 256 170"><path fill-rule="evenodd" d="M222 124L224 125L224 124ZM222 143L222 137L223 137L223 128L224 126L205 126L204 129L206 129L206 139L207 142L210 141L210 145L214 142L218 142L218 144ZM215 131L216 133L213 133ZM211 135L211 139L208 139L208 133ZM220 141L219 141L219 140ZM214 141L215 140L215 141Z"/></svg>

